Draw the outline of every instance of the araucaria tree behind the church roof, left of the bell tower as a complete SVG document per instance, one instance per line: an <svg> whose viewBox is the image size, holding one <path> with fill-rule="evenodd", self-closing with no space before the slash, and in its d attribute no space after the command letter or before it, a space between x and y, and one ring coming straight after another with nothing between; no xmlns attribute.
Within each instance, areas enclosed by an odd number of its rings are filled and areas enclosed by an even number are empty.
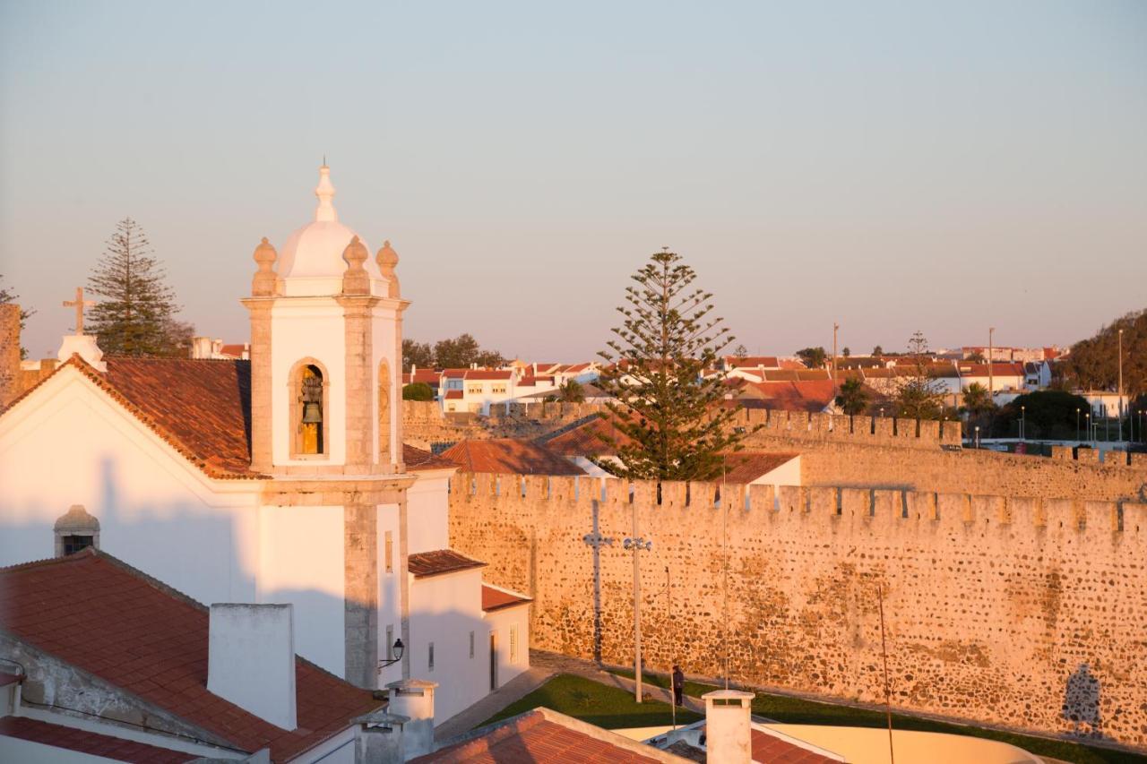
<svg viewBox="0 0 1147 764"><path fill-rule="evenodd" d="M102 297L88 311L88 328L100 349L114 356L181 356L189 327L174 319L175 295L139 224L124 218L108 240L103 257L87 279Z"/></svg>

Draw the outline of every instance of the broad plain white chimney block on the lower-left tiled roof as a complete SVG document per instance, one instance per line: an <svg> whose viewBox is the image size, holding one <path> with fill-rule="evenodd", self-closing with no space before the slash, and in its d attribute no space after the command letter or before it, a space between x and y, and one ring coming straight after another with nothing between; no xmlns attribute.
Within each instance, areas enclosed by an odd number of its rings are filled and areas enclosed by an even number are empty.
<svg viewBox="0 0 1147 764"><path fill-rule="evenodd" d="M211 606L208 691L276 727L298 726L290 605Z"/></svg>

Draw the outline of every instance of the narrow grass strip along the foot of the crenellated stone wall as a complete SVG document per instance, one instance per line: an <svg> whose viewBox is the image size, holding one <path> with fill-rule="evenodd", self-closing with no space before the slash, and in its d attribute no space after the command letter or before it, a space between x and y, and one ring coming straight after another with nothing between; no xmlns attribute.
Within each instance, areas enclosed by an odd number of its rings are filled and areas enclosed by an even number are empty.
<svg viewBox="0 0 1147 764"><path fill-rule="evenodd" d="M619 677L633 678L633 671L610 670ZM668 687L669 677L660 675L643 675L643 680L657 687ZM701 697L703 694L718 689L713 685L702 685L695 681L685 683L685 694ZM883 727L888 724L888 718L883 711L872 711L850 705L836 705L833 703L818 703L817 701L791 697L789 695L770 695L760 691L754 691L757 696L752 701L752 712L766 716L770 719L787 724L835 724L852 727ZM571 715L572 716L572 715ZM617 725L629 726L629 725ZM637 726L637 725L633 725ZM945 724L916 716L904 716L892 714L892 726L897 730L920 730L923 732L946 732L957 735L973 735L976 738L988 738L999 740L1023 748L1027 751L1039 756L1051 756L1064 762L1076 764L1145 764L1147 756L1125 754L1122 751L1108 750L1106 748L1094 748L1080 746L1078 743L1063 740L1050 740L1047 738L1031 738L998 730L983 730L980 727L966 727L959 724Z"/></svg>

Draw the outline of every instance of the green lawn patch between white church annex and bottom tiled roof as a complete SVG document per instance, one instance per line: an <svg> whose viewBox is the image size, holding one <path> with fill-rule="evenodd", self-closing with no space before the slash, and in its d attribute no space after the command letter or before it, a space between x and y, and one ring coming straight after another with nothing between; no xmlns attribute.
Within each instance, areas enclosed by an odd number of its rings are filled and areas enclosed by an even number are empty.
<svg viewBox="0 0 1147 764"><path fill-rule="evenodd" d="M672 723L669 703L646 701L638 704L633 700L633 693L592 679L561 673L478 726L508 719L539 705L607 730L655 727ZM689 724L700 718L697 714L677 709L678 724Z"/></svg>

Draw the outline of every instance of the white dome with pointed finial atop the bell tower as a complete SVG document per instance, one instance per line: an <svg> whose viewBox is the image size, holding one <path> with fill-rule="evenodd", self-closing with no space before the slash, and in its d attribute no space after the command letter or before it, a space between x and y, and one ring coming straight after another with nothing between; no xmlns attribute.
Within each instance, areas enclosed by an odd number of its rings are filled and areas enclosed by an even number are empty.
<svg viewBox="0 0 1147 764"><path fill-rule="evenodd" d="M319 197L314 220L288 236L279 252L279 278L283 280L288 295L338 294L342 289L343 273L346 271L343 250L351 243L351 239L358 235L338 223L338 215L331 201L335 187L330 185L330 170L327 166L319 170L319 186L314 189L314 195ZM359 241L366 247L367 252L372 252L370 245L361 236ZM372 281L382 278L373 252L362 266L370 274Z"/></svg>

